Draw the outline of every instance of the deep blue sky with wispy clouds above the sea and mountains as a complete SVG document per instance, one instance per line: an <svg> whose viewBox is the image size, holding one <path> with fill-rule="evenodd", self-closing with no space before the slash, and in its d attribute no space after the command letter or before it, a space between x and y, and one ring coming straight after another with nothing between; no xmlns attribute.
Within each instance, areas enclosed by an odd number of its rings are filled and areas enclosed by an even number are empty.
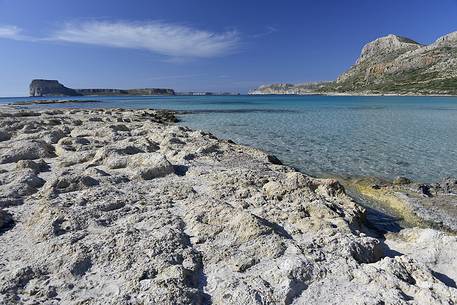
<svg viewBox="0 0 457 305"><path fill-rule="evenodd" d="M457 31L457 0L0 0L0 96L71 88L245 93L333 80L363 45Z"/></svg>

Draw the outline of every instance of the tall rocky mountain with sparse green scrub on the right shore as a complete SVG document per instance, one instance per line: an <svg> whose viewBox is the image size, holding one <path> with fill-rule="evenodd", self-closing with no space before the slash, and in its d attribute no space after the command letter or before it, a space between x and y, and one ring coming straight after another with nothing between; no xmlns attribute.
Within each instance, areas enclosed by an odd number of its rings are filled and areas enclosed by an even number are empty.
<svg viewBox="0 0 457 305"><path fill-rule="evenodd" d="M288 90L299 91L301 85ZM276 85L262 86L284 94ZM306 92L321 94L457 95L457 32L430 45L388 35L366 44L356 63L334 82Z"/></svg>

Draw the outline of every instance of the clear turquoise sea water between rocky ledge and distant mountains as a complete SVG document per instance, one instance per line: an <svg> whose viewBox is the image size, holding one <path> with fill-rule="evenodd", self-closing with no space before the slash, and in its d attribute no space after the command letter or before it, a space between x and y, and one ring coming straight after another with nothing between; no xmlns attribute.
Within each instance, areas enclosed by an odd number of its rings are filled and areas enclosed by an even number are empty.
<svg viewBox="0 0 457 305"><path fill-rule="evenodd" d="M35 99L35 98L34 98ZM84 97L53 107L187 110L183 125L254 145L315 176L457 177L454 97ZM27 98L0 99L0 103Z"/></svg>

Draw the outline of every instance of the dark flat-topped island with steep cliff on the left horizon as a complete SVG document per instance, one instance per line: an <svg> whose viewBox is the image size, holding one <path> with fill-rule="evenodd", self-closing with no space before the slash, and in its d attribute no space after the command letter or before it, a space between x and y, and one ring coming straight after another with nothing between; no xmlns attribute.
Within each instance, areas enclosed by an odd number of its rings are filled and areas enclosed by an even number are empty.
<svg viewBox="0 0 457 305"><path fill-rule="evenodd" d="M30 96L84 96L84 95L175 95L173 89L71 89L57 80L34 79L30 83Z"/></svg>

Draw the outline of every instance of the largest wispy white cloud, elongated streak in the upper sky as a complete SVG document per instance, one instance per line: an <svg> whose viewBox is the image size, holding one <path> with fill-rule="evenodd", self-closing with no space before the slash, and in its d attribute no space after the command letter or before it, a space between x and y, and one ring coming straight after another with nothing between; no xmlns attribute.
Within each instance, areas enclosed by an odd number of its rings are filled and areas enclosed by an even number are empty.
<svg viewBox="0 0 457 305"><path fill-rule="evenodd" d="M145 49L170 57L215 57L233 52L236 31L215 33L163 22L92 21L67 23L51 40L108 47Z"/></svg>

